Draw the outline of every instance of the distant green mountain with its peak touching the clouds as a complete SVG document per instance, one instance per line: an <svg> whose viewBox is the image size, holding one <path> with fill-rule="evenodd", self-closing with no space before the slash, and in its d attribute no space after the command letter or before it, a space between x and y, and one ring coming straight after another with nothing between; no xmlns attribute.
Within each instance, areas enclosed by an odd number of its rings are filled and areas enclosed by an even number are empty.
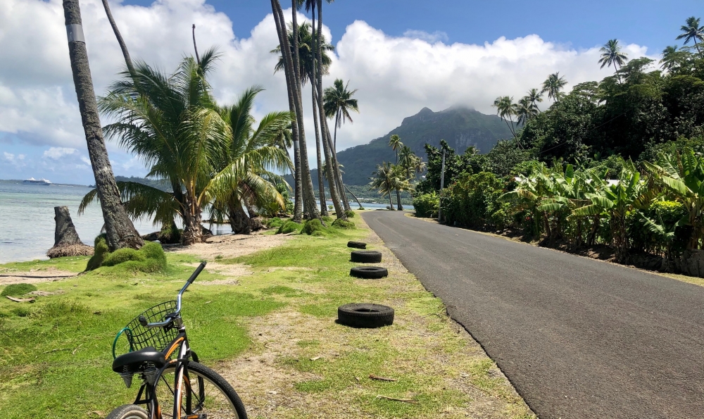
<svg viewBox="0 0 704 419"><path fill-rule="evenodd" d="M440 112L422 108L416 115L404 118L400 127L394 128L384 137L339 151L337 159L344 165L346 184L366 185L377 164L395 161L396 155L389 147L389 137L394 134L423 158L426 157L423 149L425 143L439 146L441 139L459 153L464 152L468 146L476 146L479 152L487 153L499 139L512 137L506 123L496 115L486 115L458 106ZM313 170L313 179L318 179L317 176L318 173Z"/></svg>

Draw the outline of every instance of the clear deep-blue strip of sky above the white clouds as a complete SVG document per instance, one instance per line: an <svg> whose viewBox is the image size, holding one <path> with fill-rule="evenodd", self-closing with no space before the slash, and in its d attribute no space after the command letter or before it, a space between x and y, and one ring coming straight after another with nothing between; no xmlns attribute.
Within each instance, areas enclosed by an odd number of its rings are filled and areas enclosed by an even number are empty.
<svg viewBox="0 0 704 419"><path fill-rule="evenodd" d="M126 0L149 6L151 0ZM237 37L248 37L267 13L269 1L208 0L227 13ZM284 8L290 1L282 1ZM679 27L691 15L704 15L700 0L337 0L324 2L323 21L337 42L347 25L364 20L392 36L406 30L445 32L449 42L483 44L498 37L513 39L536 34L548 42L577 49L617 38L646 45L650 54L675 44Z"/></svg>

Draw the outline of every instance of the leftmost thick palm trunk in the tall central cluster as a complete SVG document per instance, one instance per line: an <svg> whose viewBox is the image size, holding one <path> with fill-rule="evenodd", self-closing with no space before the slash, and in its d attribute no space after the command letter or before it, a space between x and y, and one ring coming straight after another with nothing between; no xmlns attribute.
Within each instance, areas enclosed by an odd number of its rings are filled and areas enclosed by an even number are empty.
<svg viewBox="0 0 704 419"><path fill-rule="evenodd" d="M275 0L278 3L278 0ZM303 213L308 219L320 218L318 204L315 202L313 194L313 178L310 177L310 165L308 164L308 148L306 147L306 129L303 125L303 100L301 99L301 64L298 57L298 23L296 22L297 0L291 0L291 26L294 33L294 47L292 51L293 61L291 63L291 73L293 82L291 87L294 90L294 106L296 106L296 119L298 120L298 142L301 149L301 183L303 185ZM279 6L279 11L281 7ZM279 20L285 23L284 14L281 12ZM284 25L285 27L285 25Z"/></svg>

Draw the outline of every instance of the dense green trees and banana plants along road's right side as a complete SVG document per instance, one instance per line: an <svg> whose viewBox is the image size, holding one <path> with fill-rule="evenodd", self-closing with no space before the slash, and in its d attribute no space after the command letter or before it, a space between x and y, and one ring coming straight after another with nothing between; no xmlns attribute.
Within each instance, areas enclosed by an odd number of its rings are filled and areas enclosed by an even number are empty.
<svg viewBox="0 0 704 419"><path fill-rule="evenodd" d="M499 96L513 138L487 154L426 144L417 212L570 251L605 249L621 262L702 249L703 36L699 20L687 19L677 36L684 45L668 46L659 67L610 39L598 65L614 73L601 82L565 92L567 78L555 72L517 103ZM541 111L543 95L551 106Z"/></svg>

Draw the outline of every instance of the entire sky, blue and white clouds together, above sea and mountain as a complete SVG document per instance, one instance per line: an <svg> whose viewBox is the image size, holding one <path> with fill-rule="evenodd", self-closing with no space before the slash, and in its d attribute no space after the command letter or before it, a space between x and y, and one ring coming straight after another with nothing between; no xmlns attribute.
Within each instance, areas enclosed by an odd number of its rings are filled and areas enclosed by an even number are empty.
<svg viewBox="0 0 704 419"><path fill-rule="evenodd" d="M265 0L110 0L133 58L172 70L199 48L219 46L214 94L232 103L263 85L256 118L287 109L277 43ZM205 1L205 3L203 3ZM496 96L520 98L559 71L569 84L601 80L598 48L617 38L630 58L658 60L678 44L679 27L704 17L701 0L459 1L337 0L325 4L326 33L336 51L324 85L335 78L358 89L360 114L339 131L339 149L382 137L423 107L455 105L484 113ZM290 4L282 5L284 8ZM124 67L100 0L81 0L97 94ZM13 14L1 13L12 10ZM286 11L290 16L290 10ZM301 16L303 18L303 16ZM94 182L87 160L68 61L61 0L2 0L0 6L0 179L46 177ZM306 92L304 92L306 94ZM304 100L305 102L305 100ZM308 105L306 105L308 106ZM546 104L548 106L548 104ZM313 138L310 109L306 131ZM106 121L103 121L106 123ZM108 142L117 175L144 175L138 158ZM315 162L315 147L310 147ZM486 151L486 150L484 150ZM313 164L315 166L315 164Z"/></svg>

